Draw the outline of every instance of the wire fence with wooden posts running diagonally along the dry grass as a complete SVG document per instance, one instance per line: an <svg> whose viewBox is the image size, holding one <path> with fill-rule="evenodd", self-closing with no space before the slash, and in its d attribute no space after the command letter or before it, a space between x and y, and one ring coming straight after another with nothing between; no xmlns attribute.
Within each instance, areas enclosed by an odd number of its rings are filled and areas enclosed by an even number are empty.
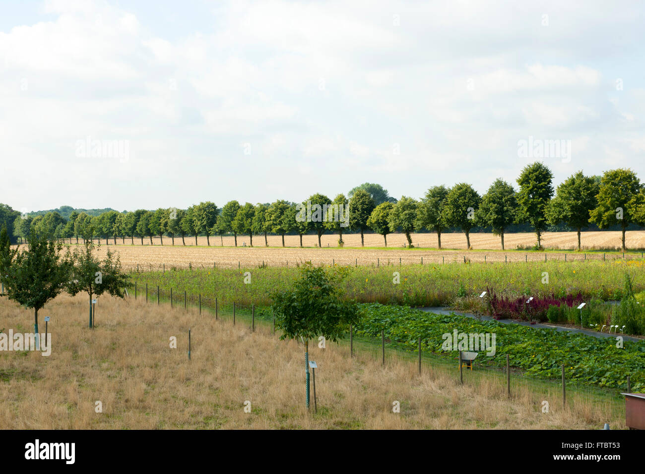
<svg viewBox="0 0 645 474"><path fill-rule="evenodd" d="M157 286L150 288L147 285L145 288L130 288L128 294L135 299L145 299L148 304L171 304L175 308L184 308L186 311L199 311L200 315L209 315L236 325L246 326L250 331L261 331L272 335L279 333L275 326L275 316L266 307L223 301L200 294L189 294L183 290ZM397 345L400 342L402 341L391 341L384 337L356 336L350 330L344 339L326 342L326 344L335 344L337 348L346 352L347 357L354 357L357 360L377 360L382 364L410 363L415 368L418 366L419 373L422 371L442 373L491 395L531 399L540 404L542 410L545 405L547 409L566 406L587 413L590 411L602 413L608 419L624 418L625 415L624 397L620 394L631 391L629 379L625 380L619 388L604 388L568 380L564 375L559 379L537 378L513 367L512 359L508 360L510 365L507 371L506 368L500 368L494 364L490 357L484 359L486 362L473 360L471 368L463 365L460 368L458 356L446 357L433 353L427 350L427 346L424 347L424 344L421 344L424 341L420 341L419 344L421 351L406 350Z"/></svg>

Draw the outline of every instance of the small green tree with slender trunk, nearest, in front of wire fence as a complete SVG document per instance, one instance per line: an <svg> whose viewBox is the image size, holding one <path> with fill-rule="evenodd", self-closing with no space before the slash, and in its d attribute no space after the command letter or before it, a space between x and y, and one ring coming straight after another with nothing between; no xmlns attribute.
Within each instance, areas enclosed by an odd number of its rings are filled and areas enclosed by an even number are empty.
<svg viewBox="0 0 645 474"><path fill-rule="evenodd" d="M305 344L306 404L309 407L309 340L323 336L329 341L340 339L350 324L359 318L354 301L342 298L342 280L346 268L315 267L306 262L291 290L272 295L275 326L283 331L280 339L302 338Z"/></svg>

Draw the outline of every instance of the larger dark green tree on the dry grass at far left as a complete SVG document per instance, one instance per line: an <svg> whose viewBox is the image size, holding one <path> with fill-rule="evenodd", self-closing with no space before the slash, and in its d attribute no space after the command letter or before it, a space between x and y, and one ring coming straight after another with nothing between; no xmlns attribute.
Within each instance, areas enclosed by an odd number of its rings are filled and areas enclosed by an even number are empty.
<svg viewBox="0 0 645 474"><path fill-rule="evenodd" d="M54 299L70 279L70 253L62 255L63 244L48 241L35 228L27 237L28 246L20 251L6 245L6 232L0 238L0 282L8 298L34 310L34 333L38 334L38 311ZM36 344L38 342L36 341Z"/></svg>

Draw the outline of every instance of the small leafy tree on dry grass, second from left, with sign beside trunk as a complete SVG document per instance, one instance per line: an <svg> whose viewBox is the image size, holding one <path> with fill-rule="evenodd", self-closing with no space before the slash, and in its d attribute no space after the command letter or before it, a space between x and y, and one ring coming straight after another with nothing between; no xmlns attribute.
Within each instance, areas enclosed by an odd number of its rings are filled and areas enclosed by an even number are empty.
<svg viewBox="0 0 645 474"><path fill-rule="evenodd" d="M92 315L92 296L109 293L123 298L124 289L128 284L128 276L121 271L121 261L118 253L108 249L105 259L101 261L94 255L94 242L85 241L83 248L75 248L72 255L72 279L66 284L67 292L75 296L84 291L90 301L90 328L94 327Z"/></svg>

